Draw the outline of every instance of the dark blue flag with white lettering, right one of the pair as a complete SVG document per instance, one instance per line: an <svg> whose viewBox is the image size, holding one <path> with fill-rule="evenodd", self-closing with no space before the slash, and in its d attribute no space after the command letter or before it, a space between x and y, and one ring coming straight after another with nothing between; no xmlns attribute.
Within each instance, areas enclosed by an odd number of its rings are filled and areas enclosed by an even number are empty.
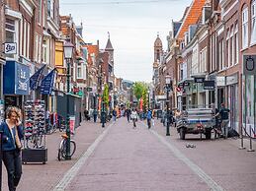
<svg viewBox="0 0 256 191"><path fill-rule="evenodd" d="M55 79L55 73L56 73L56 69L54 68L53 70L50 71L50 73L47 74L47 76L43 78L43 81L41 83L42 95L51 95L54 79Z"/></svg>

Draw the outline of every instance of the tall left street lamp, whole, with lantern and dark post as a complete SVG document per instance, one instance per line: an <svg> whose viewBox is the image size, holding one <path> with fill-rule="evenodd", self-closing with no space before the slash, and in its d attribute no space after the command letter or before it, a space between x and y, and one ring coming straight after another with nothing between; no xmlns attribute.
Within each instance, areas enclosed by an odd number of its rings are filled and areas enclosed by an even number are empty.
<svg viewBox="0 0 256 191"><path fill-rule="evenodd" d="M70 94L70 62L73 54L74 45L66 41L64 43L64 58L67 64L66 81L67 81L67 94L66 94L66 156L65 159L71 159L70 156L70 124L69 124L69 94Z"/></svg>

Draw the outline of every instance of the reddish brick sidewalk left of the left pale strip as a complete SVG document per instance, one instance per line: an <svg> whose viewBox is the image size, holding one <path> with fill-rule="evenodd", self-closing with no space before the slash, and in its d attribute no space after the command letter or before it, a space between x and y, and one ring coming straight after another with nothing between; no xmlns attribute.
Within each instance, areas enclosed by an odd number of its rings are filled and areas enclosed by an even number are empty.
<svg viewBox="0 0 256 191"><path fill-rule="evenodd" d="M108 124L107 124L108 125ZM61 140L58 130L46 136L46 164L23 164L23 175L18 191L52 190L63 174L86 152L87 148L104 131L100 123L82 122L72 137L77 143L77 150L72 160L57 160L57 148ZM7 191L7 174L3 165L2 190Z"/></svg>

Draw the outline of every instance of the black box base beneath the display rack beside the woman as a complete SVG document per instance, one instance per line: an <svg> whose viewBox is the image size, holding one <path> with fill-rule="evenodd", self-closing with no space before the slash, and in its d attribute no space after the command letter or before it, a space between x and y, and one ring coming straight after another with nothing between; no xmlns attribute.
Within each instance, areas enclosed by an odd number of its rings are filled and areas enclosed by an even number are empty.
<svg viewBox="0 0 256 191"><path fill-rule="evenodd" d="M23 163L45 163L47 161L47 149L22 150Z"/></svg>

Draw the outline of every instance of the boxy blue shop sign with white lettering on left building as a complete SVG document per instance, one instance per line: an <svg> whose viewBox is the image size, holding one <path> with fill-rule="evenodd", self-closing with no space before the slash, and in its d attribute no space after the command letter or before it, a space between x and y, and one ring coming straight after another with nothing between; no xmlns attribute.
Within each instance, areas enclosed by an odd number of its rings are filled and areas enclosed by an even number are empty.
<svg viewBox="0 0 256 191"><path fill-rule="evenodd" d="M6 61L3 72L4 95L29 95L29 66L16 61Z"/></svg>

